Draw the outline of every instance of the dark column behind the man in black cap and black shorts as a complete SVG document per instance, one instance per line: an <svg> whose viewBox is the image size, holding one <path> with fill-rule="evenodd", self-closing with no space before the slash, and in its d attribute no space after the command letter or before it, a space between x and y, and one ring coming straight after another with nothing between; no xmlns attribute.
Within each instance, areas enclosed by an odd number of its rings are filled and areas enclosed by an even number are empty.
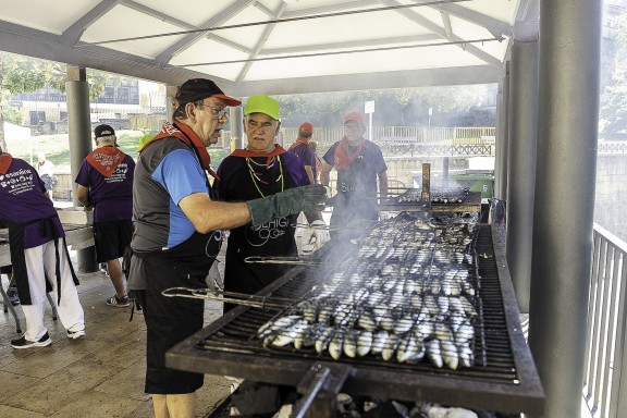
<svg viewBox="0 0 627 418"><path fill-rule="evenodd" d="M72 175L73 205L82 206L76 197L74 179L81 170L83 160L91 152L91 122L89 116L89 85L85 67L67 65L65 82L67 96L67 134L70 137L70 172ZM96 248L85 248L76 251L76 269L79 272L98 270Z"/></svg>

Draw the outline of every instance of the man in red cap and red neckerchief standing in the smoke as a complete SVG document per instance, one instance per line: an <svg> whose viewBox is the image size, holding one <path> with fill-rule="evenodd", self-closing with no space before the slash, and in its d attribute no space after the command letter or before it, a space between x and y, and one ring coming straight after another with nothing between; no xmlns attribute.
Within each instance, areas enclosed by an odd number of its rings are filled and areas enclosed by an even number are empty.
<svg viewBox="0 0 627 418"><path fill-rule="evenodd" d="M329 186L331 169L337 171L337 194L333 197L331 229L346 226L356 219L378 220L377 179L379 198L388 197L388 165L381 148L364 138L366 126L361 114L344 116L344 137L324 153L320 183Z"/></svg>

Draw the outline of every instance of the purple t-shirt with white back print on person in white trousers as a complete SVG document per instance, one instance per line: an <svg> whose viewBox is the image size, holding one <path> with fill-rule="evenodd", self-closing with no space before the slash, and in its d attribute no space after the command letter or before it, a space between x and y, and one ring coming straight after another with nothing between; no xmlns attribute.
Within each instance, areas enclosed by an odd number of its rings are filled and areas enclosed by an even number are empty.
<svg viewBox="0 0 627 418"><path fill-rule="evenodd" d="M52 201L44 195L46 187L37 171L26 161L13 158L5 174L0 174L0 219L4 222L26 224L38 219L53 218L57 233L65 236ZM39 224L27 225L24 231L24 247L33 248L52 239L52 234L42 234Z"/></svg>

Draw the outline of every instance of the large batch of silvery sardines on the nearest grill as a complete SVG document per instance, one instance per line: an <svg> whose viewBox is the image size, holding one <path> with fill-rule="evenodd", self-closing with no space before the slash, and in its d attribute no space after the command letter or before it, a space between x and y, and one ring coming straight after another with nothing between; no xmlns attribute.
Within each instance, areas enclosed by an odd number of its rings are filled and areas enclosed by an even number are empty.
<svg viewBox="0 0 627 418"><path fill-rule="evenodd" d="M336 360L376 356L471 367L478 321L474 224L407 212L379 222L354 257L260 327L257 337L266 347L315 349Z"/></svg>

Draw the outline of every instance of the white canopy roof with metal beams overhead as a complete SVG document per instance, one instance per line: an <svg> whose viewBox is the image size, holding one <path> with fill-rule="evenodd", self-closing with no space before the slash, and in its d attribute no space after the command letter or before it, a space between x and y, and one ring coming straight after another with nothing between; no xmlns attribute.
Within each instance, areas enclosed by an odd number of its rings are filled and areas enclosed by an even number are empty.
<svg viewBox="0 0 627 418"><path fill-rule="evenodd" d="M0 50L239 96L495 83L538 3L0 0Z"/></svg>

